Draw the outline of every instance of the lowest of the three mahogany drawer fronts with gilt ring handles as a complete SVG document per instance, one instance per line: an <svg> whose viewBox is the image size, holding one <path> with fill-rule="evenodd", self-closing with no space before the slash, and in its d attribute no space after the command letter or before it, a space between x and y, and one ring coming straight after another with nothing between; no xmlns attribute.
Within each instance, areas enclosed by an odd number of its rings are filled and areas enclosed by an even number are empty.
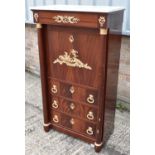
<svg viewBox="0 0 155 155"><path fill-rule="evenodd" d="M95 137L96 135L96 125L82 121L80 119L52 111L51 121L53 124L63 126L64 128L73 130L75 132L81 133L83 135Z"/></svg>

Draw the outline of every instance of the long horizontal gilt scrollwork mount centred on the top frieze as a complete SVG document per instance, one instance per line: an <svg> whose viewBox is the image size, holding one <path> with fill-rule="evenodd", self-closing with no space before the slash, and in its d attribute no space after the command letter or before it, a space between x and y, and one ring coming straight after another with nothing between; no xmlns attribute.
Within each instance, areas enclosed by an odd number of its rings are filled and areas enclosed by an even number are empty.
<svg viewBox="0 0 155 155"><path fill-rule="evenodd" d="M74 16L61 16L61 15L54 16L53 19L57 23L70 23L70 24L75 24L80 21L79 18L76 18Z"/></svg>

